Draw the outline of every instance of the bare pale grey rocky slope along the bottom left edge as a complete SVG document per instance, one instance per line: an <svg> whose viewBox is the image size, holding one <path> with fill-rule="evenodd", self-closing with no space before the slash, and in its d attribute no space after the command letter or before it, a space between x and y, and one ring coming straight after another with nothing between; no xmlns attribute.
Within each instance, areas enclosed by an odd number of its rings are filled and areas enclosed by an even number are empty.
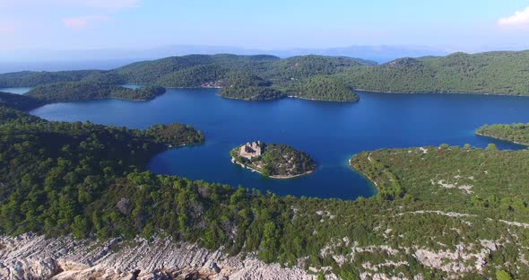
<svg viewBox="0 0 529 280"><path fill-rule="evenodd" d="M229 257L169 239L0 238L0 279L316 279L299 268Z"/></svg>

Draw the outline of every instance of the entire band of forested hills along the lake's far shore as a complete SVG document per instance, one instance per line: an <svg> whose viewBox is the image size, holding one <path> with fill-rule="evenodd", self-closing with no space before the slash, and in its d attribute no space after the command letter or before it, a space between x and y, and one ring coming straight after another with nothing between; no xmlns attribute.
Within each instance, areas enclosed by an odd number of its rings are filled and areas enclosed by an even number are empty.
<svg viewBox="0 0 529 280"><path fill-rule="evenodd" d="M112 88L124 83L169 88L219 87L219 95L247 101L289 96L315 101L359 101L355 89L528 95L528 63L529 51L405 57L382 65L358 58L314 55L284 59L266 55L189 55L137 62L109 71L0 74L0 88L55 83L34 94L57 101L101 98L97 93L83 96L82 92L91 92L95 86L106 92L103 97L126 99L151 99L156 95L152 92L159 91L134 93ZM63 93L57 95L56 91Z"/></svg>

